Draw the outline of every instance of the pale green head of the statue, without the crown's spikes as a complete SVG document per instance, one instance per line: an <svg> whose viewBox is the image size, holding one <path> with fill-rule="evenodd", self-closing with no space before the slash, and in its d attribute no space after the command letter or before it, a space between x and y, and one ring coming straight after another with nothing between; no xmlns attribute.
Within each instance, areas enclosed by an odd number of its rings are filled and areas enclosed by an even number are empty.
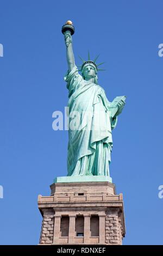
<svg viewBox="0 0 163 256"><path fill-rule="evenodd" d="M97 69L92 64L86 64L82 69L82 76L84 79L88 80L94 78L94 83L97 84Z"/></svg>

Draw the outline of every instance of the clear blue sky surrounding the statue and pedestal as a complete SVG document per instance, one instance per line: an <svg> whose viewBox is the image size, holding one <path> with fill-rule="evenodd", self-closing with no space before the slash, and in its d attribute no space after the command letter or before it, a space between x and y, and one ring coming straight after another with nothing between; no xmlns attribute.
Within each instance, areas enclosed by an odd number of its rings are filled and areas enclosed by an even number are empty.
<svg viewBox="0 0 163 256"><path fill-rule="evenodd" d="M36 245L41 231L37 196L48 196L55 176L65 176L67 131L52 130L52 113L64 111L68 92L61 26L76 27L73 47L87 50L106 71L99 84L108 99L127 95L113 132L110 166L126 216L125 245L162 242L161 0L0 0L0 243Z"/></svg>

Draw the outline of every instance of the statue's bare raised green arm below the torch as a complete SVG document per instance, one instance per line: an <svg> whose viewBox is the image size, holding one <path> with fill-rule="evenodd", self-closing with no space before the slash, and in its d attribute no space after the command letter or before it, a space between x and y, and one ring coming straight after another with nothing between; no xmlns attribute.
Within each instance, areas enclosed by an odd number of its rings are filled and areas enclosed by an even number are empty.
<svg viewBox="0 0 163 256"><path fill-rule="evenodd" d="M74 54L72 50L72 36L70 31L66 31L65 34L65 44L66 44L66 52L67 52L67 64L69 72L74 68L75 61L74 61Z"/></svg>

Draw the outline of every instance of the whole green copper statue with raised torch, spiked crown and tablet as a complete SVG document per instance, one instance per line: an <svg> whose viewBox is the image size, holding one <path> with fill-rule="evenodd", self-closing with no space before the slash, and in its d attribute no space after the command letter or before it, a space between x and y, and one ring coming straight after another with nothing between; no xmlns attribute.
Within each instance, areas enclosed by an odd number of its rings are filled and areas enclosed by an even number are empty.
<svg viewBox="0 0 163 256"><path fill-rule="evenodd" d="M117 115L122 112L126 97L119 96L113 102L109 102L104 89L98 85L97 72L100 69L99 64L96 64L97 58L91 60L89 56L87 61L82 59L80 70L75 64L72 48L74 27L71 21L67 21L62 27L62 33L67 51L68 71L65 81L69 91L70 123L73 121L74 113L80 114L77 129L70 127L68 130L67 176L110 177L112 129L117 124ZM82 75L78 71L81 71Z"/></svg>

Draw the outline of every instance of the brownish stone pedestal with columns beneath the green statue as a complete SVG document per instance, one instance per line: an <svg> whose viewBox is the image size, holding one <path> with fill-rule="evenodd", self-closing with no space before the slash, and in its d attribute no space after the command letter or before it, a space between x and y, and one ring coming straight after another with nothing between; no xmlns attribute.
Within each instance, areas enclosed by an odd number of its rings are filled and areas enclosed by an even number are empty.
<svg viewBox="0 0 163 256"><path fill-rule="evenodd" d="M43 217L40 244L122 245L122 193L108 181L59 182L38 197Z"/></svg>

